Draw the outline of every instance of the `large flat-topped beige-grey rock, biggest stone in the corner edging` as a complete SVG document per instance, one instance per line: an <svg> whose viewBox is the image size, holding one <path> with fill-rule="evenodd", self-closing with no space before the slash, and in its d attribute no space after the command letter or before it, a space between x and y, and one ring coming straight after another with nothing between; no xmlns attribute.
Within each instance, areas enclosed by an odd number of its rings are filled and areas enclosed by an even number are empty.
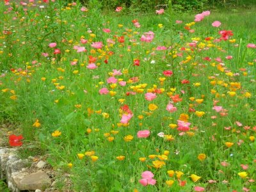
<svg viewBox="0 0 256 192"><path fill-rule="evenodd" d="M24 173L20 173L24 174ZM36 190L44 191L45 188L51 186L51 179L45 172L41 170L29 175L15 175L13 181L19 190Z"/></svg>

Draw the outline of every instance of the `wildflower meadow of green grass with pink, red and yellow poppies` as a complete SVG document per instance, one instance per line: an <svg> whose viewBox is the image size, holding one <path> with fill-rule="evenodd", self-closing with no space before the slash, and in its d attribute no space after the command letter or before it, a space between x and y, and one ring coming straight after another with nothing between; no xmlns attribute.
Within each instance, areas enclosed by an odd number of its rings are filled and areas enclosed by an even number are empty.
<svg viewBox="0 0 256 192"><path fill-rule="evenodd" d="M0 120L22 129L9 143L39 147L72 190L256 190L253 11L0 10Z"/></svg>

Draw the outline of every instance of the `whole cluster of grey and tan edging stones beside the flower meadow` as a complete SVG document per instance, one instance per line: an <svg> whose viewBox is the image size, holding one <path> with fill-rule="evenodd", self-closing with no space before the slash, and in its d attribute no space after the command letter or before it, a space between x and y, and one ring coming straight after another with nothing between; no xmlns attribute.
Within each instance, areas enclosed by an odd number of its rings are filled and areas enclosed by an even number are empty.
<svg viewBox="0 0 256 192"><path fill-rule="evenodd" d="M44 171L28 172L32 162L28 159L19 159L15 154L15 148L0 147L0 178L6 179L10 190L44 191L51 186L51 179ZM45 165L44 161L39 161L36 168L44 168Z"/></svg>

